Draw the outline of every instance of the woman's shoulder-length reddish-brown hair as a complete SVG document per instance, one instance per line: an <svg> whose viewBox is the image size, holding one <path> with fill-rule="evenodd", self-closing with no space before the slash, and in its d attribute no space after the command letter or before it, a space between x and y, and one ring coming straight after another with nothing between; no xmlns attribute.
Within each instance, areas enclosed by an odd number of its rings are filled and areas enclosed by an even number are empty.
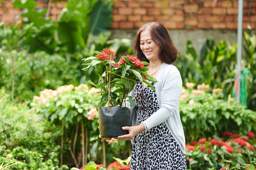
<svg viewBox="0 0 256 170"><path fill-rule="evenodd" d="M136 56L141 61L149 62L146 56L140 49L140 34L142 31L148 29L150 32L152 40L160 46L159 60L167 64L173 64L178 58L178 51L171 40L171 37L164 27L164 25L158 22L148 22L141 26L136 34L136 39L134 43L134 50L136 51Z"/></svg>

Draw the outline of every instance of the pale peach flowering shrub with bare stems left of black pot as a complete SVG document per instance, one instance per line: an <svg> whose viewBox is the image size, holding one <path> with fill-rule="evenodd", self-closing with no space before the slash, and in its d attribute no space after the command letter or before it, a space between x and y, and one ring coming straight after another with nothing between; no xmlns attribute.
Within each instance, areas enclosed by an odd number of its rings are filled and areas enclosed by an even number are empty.
<svg viewBox="0 0 256 170"><path fill-rule="evenodd" d="M34 96L32 109L63 128L61 140L72 156L72 162L79 166L87 163L89 137L98 137L96 105L99 95L95 88L86 84L60 86L56 90L45 89L40 96ZM81 141L81 142L80 142ZM80 154L81 157L77 158ZM63 157L61 157L62 161Z"/></svg>

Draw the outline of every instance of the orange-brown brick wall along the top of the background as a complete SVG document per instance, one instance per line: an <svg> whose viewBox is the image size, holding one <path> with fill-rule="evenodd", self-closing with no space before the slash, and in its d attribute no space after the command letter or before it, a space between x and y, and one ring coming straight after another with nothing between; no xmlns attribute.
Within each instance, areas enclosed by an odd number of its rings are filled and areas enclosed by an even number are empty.
<svg viewBox="0 0 256 170"><path fill-rule="evenodd" d="M162 22L167 29L237 29L238 0L113 0L112 29L137 29L150 21ZM13 24L21 13L12 0L0 4L0 21ZM65 2L52 4L49 17L59 18ZM47 8L38 2L37 8ZM256 29L256 0L243 0L243 29Z"/></svg>

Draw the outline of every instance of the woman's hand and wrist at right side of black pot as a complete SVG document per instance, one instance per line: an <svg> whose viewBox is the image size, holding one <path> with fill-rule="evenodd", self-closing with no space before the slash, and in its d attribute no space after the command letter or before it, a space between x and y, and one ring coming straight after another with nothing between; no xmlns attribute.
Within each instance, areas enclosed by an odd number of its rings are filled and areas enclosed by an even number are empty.
<svg viewBox="0 0 256 170"><path fill-rule="evenodd" d="M128 130L129 134L122 135L117 137L117 139L128 141L133 139L139 132L142 132L145 130L145 127L143 124L140 124L138 126L124 126L122 127L123 130Z"/></svg>

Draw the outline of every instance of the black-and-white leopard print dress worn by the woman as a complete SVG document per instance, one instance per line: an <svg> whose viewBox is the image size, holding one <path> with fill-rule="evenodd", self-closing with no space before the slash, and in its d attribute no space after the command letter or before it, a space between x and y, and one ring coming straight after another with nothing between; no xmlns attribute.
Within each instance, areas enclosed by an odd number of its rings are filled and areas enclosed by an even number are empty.
<svg viewBox="0 0 256 170"><path fill-rule="evenodd" d="M155 86L155 83L152 83ZM135 92L137 110L136 125L141 124L158 109L155 91L143 84L136 84ZM158 126L138 133L132 141L132 158L130 170L186 170L186 158L180 146L163 122Z"/></svg>

